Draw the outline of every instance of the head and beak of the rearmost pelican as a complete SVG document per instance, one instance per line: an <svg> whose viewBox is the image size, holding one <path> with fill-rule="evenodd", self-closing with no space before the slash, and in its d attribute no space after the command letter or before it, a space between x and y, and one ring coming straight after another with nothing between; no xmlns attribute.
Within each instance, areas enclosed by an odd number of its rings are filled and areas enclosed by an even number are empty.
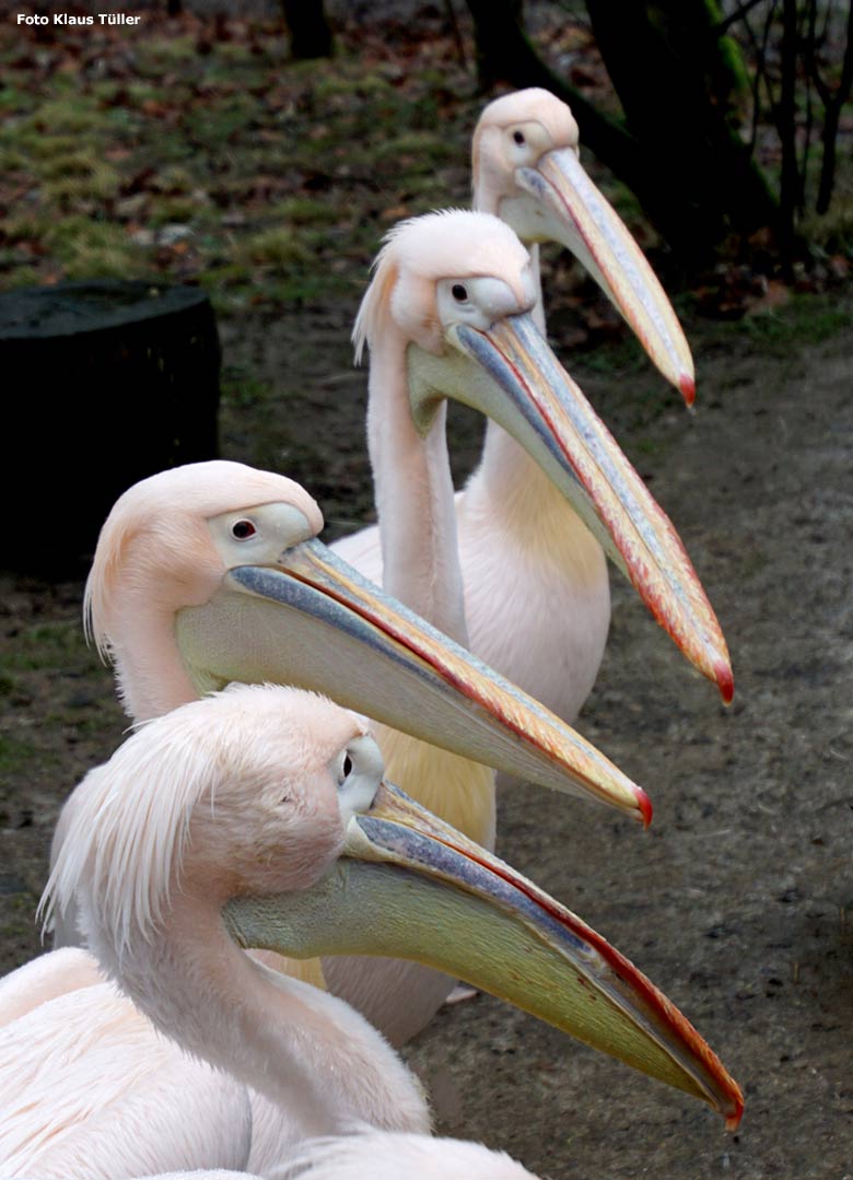
<svg viewBox="0 0 853 1180"><path fill-rule="evenodd" d="M474 131L473 184L475 208L497 214L524 242L571 250L691 405L684 333L637 243L584 171L566 104L539 88L490 103Z"/></svg>

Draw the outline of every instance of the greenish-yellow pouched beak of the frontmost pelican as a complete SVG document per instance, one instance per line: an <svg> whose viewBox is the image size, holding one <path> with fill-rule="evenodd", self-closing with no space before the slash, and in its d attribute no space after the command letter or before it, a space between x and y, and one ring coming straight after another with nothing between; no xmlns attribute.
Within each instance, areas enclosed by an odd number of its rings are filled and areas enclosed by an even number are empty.
<svg viewBox="0 0 853 1180"><path fill-rule="evenodd" d="M296 958L387 955L490 991L669 1086L734 1129L743 1097L684 1016L617 950L391 784L313 889L228 903L241 945Z"/></svg>

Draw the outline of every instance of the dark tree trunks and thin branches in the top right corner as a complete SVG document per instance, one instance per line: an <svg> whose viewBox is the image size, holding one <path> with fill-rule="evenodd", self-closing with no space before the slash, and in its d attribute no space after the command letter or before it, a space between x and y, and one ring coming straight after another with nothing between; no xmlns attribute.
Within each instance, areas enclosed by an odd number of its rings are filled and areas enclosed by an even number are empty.
<svg viewBox="0 0 853 1180"><path fill-rule="evenodd" d="M468 8L481 84L565 98L689 269L761 249L790 278L813 248L849 247L849 4L586 0L621 110L585 93L585 64L539 51L519 0Z"/></svg>

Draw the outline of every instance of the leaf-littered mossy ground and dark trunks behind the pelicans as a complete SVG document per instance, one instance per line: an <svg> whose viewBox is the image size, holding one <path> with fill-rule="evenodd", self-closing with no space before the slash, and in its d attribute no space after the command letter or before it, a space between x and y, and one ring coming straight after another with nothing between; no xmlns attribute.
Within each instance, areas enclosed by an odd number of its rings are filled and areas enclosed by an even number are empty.
<svg viewBox="0 0 853 1180"><path fill-rule="evenodd" d="M586 166L701 310L847 276L849 4L171 0L125 6L134 28L6 7L6 289L168 278L219 312L354 297L386 228L467 203L484 99L524 85L570 101Z"/></svg>

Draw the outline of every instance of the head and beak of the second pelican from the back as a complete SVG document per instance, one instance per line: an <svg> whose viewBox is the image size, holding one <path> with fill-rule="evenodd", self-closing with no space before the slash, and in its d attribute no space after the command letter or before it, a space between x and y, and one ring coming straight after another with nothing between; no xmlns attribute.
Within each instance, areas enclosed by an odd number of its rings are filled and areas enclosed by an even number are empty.
<svg viewBox="0 0 853 1180"><path fill-rule="evenodd" d="M724 700L726 641L669 518L536 326L530 255L491 214L446 211L395 227L355 323L370 374L405 366L412 420L426 437L455 398L531 454L630 579L658 623ZM373 389L373 385L372 385ZM369 415L383 430L387 405Z"/></svg>

